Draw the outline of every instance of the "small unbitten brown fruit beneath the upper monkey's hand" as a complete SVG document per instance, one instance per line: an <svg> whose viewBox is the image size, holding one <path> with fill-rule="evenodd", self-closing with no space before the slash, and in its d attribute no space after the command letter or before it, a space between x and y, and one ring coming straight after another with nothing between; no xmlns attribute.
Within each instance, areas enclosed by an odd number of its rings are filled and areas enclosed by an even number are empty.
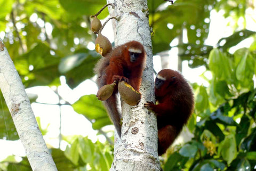
<svg viewBox="0 0 256 171"><path fill-rule="evenodd" d="M99 100L107 100L114 92L116 83L112 84L106 84L105 86L102 86L98 92L97 92L97 97Z"/></svg>

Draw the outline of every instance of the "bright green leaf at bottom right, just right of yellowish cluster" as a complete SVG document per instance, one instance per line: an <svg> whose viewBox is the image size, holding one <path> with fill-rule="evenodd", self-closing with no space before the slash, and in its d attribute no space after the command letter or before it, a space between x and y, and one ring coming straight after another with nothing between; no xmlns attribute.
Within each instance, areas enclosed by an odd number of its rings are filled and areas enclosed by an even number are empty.
<svg viewBox="0 0 256 171"><path fill-rule="evenodd" d="M236 158L236 139L233 134L226 136L225 139L220 143L218 153L221 154L225 161L227 161L228 165Z"/></svg>

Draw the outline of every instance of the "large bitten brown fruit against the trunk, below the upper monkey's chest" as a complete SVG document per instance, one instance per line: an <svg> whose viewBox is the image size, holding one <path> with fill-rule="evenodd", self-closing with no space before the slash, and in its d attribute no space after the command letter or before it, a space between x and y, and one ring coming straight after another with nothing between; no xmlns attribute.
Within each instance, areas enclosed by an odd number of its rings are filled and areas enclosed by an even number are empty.
<svg viewBox="0 0 256 171"><path fill-rule="evenodd" d="M118 83L118 91L125 103L129 105L138 105L141 99L140 92L135 91L135 89L128 83L122 81Z"/></svg>

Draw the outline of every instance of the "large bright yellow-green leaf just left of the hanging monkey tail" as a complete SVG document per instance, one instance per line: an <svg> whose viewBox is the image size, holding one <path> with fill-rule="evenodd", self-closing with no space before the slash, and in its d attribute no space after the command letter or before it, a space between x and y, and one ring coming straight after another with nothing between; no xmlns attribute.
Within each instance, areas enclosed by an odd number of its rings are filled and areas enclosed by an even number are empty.
<svg viewBox="0 0 256 171"><path fill-rule="evenodd" d="M93 120L92 126L95 129L111 124L106 109L94 94L82 96L72 106L77 113Z"/></svg>

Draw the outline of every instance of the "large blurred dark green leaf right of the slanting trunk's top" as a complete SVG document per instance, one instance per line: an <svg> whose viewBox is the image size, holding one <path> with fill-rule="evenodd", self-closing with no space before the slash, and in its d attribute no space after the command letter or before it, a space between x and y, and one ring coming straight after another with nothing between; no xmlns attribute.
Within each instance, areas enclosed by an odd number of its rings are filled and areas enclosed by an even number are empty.
<svg viewBox="0 0 256 171"><path fill-rule="evenodd" d="M60 59L50 53L51 48L38 43L26 54L14 61L26 87L50 85L59 79L58 64ZM29 67L33 67L29 69ZM59 85L59 83L55 83Z"/></svg>

